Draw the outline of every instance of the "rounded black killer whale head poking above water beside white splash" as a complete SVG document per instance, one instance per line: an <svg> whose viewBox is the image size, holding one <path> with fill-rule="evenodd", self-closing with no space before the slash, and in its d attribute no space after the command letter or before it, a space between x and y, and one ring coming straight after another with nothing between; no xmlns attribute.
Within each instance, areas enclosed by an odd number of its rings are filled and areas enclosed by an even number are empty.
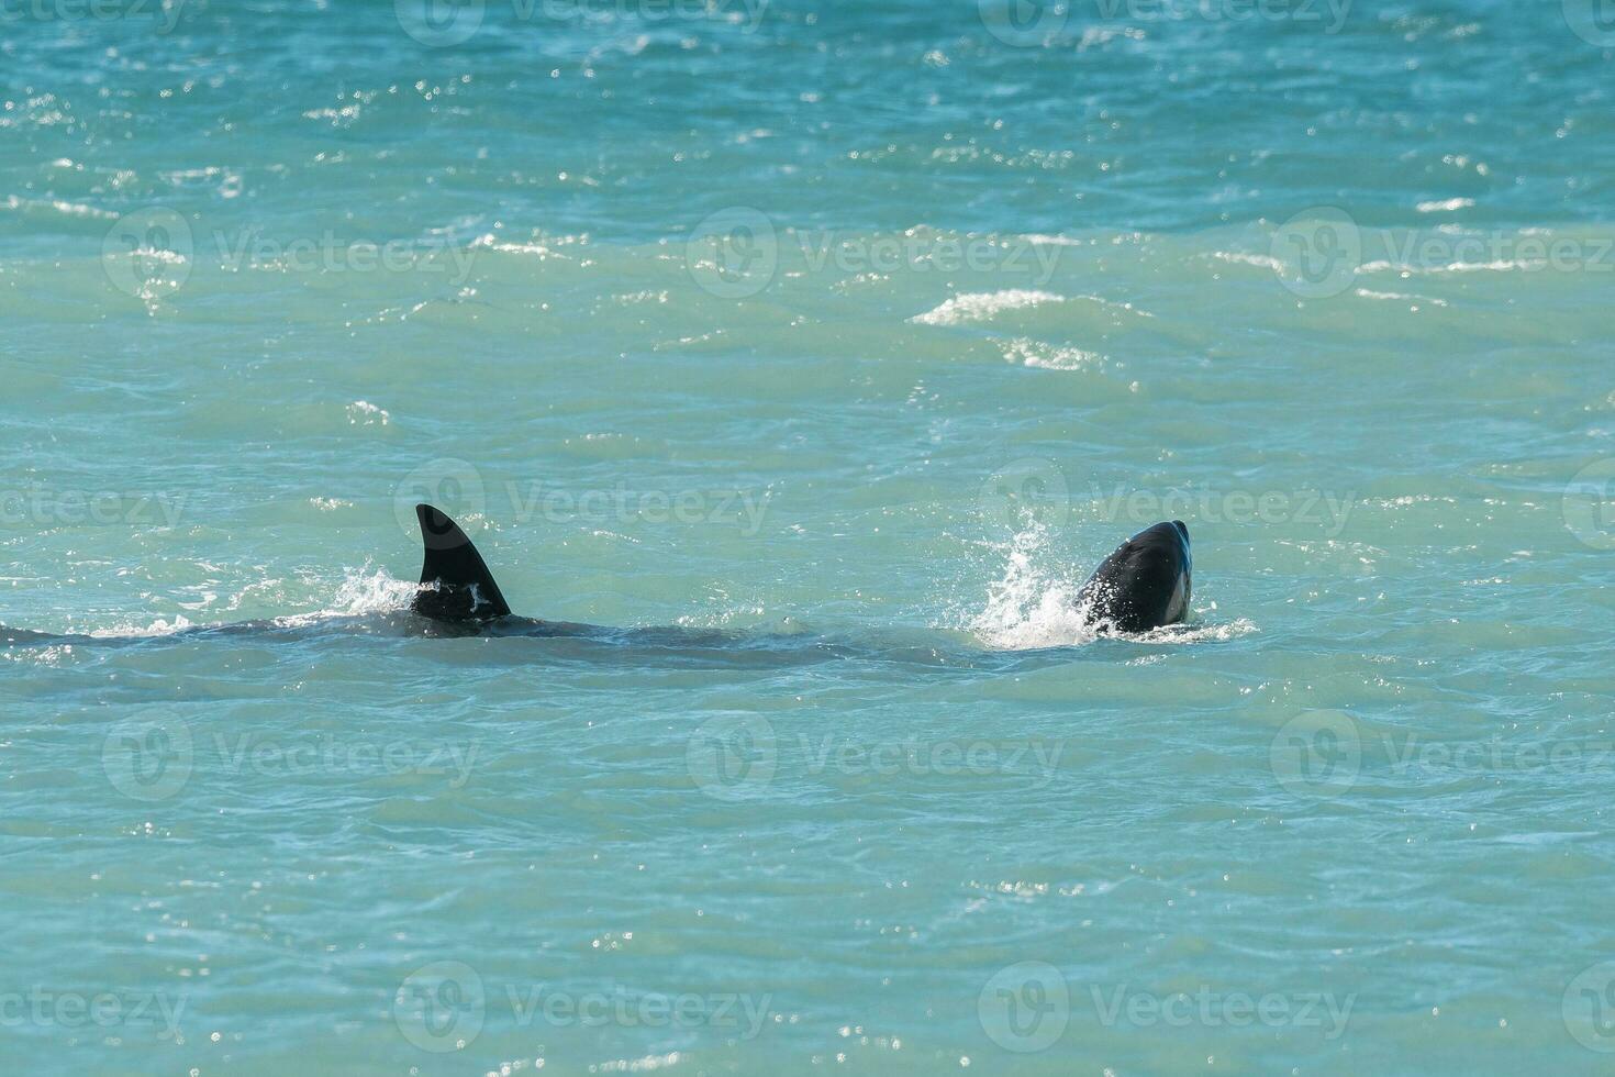
<svg viewBox="0 0 1615 1077"><path fill-rule="evenodd" d="M1101 631L1150 631L1189 614L1193 559L1182 520L1139 531L1106 557L1077 593L1077 607Z"/></svg>

